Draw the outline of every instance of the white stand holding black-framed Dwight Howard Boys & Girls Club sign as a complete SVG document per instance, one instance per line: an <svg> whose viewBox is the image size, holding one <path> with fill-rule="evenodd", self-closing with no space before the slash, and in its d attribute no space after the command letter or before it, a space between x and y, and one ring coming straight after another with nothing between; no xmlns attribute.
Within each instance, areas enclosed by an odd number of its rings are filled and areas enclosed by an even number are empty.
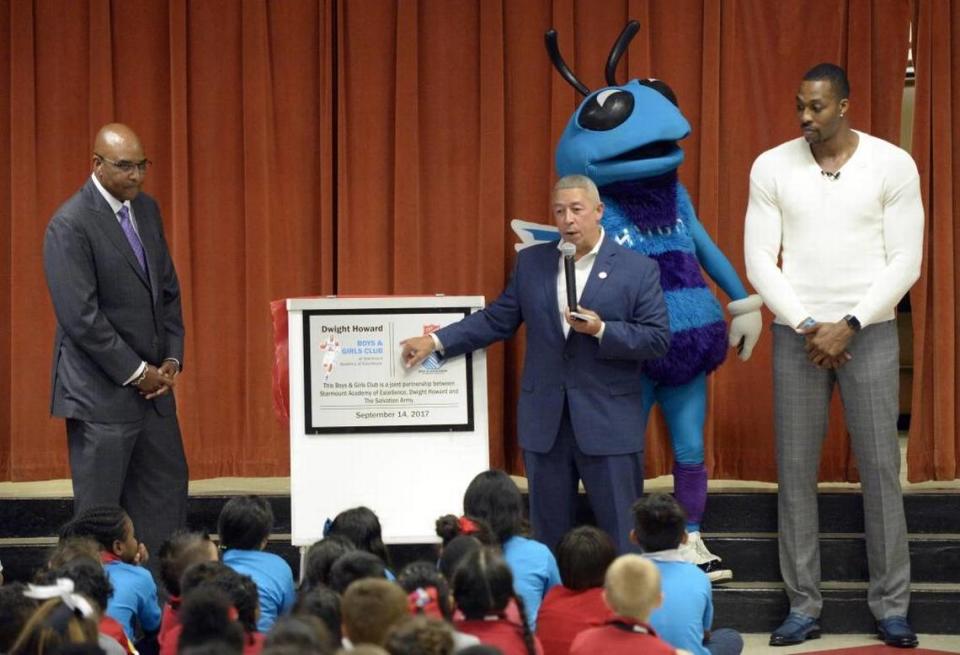
<svg viewBox="0 0 960 655"><path fill-rule="evenodd" d="M290 298L291 541L365 505L387 543L437 541L470 480L489 468L482 350L417 369L400 341L483 307L482 296Z"/></svg>

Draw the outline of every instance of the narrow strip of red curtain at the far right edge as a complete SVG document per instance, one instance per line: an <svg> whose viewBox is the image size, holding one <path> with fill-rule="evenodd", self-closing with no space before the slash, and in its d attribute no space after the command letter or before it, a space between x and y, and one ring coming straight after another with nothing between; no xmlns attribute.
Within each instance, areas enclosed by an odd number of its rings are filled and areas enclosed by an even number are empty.
<svg viewBox="0 0 960 655"><path fill-rule="evenodd" d="M910 480L960 477L960 348L957 342L960 232L960 3L917 3L913 153L927 213L923 272L914 287L914 385Z"/></svg>

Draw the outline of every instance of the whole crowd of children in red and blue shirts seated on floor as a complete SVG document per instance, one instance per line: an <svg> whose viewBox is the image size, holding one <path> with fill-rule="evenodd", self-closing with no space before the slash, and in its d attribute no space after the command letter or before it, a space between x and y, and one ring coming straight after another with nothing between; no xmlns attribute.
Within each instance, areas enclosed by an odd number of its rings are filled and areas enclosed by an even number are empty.
<svg viewBox="0 0 960 655"><path fill-rule="evenodd" d="M477 475L463 510L436 522L438 560L408 564L396 579L376 514L341 512L307 551L297 592L286 562L263 550L270 505L232 498L219 516L219 550L203 532L171 535L161 547L161 614L129 517L119 507L92 508L64 526L34 586L0 587L0 653L138 655L134 643L139 655L742 650L735 632L710 631L710 582L677 553L685 520L672 497L635 504L631 536L644 555L620 558L609 535L582 526L563 537L554 559L526 536L520 492L503 471Z"/></svg>

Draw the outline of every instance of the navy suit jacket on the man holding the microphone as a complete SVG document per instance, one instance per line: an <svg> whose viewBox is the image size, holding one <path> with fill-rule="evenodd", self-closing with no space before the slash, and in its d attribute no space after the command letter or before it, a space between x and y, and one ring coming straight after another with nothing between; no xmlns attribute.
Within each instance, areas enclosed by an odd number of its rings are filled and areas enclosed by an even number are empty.
<svg viewBox="0 0 960 655"><path fill-rule="evenodd" d="M557 300L557 242L517 256L507 288L483 310L437 332L451 357L510 337L525 323L526 355L517 410L520 446L549 452L568 403L577 444L589 455L643 450L641 362L663 355L670 324L656 262L605 236L580 297L600 315L603 339L570 330Z"/></svg>

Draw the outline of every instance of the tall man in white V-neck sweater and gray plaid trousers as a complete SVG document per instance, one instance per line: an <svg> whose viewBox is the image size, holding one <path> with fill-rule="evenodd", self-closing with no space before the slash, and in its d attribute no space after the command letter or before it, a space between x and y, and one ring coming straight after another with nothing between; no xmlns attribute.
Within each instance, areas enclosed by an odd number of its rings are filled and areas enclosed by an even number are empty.
<svg viewBox="0 0 960 655"><path fill-rule="evenodd" d="M867 601L887 644L917 645L906 619L894 313L920 275L920 178L909 154L850 128L849 91L842 68L811 69L797 93L802 138L761 154L750 173L747 277L776 315L780 571L790 615L774 646L820 634L817 469L834 384L863 488Z"/></svg>

